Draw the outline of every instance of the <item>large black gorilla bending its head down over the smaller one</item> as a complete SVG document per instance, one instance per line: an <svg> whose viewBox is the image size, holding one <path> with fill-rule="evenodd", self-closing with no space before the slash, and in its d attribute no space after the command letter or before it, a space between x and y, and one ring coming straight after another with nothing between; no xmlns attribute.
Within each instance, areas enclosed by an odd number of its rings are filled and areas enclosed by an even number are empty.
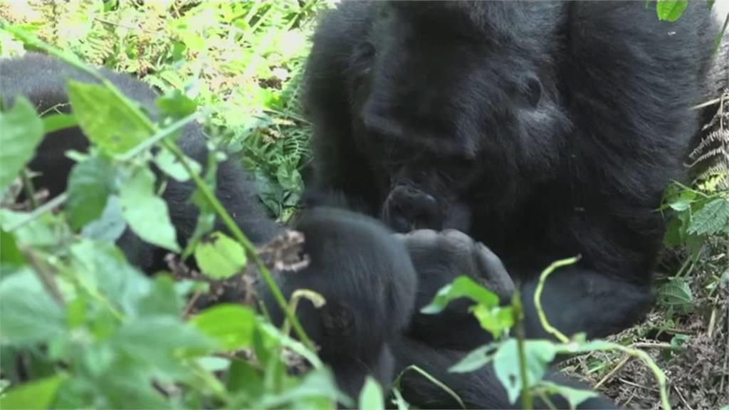
<svg viewBox="0 0 729 410"><path fill-rule="evenodd" d="M486 244L521 287L529 337L547 336L539 272L581 255L547 280L547 318L567 335L615 333L650 308L657 209L685 177L715 23L700 2L673 23L635 1L338 4L306 74L316 184L395 231ZM466 309L449 314L416 315L394 355L483 404L488 371L449 383L453 357L483 343ZM403 390L451 403L413 378Z"/></svg>

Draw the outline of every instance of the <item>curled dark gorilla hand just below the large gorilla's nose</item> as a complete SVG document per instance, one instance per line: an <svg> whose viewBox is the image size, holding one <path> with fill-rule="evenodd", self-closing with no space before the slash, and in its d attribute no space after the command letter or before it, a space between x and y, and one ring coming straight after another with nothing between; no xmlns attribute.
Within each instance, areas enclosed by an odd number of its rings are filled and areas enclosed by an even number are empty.
<svg viewBox="0 0 729 410"><path fill-rule="evenodd" d="M418 274L416 314L410 322L410 334L429 344L463 349L488 341L488 334L469 312L471 301L453 301L436 315L419 310L433 300L441 287L461 275L496 293L502 303L510 301L514 282L494 252L455 230L424 229L397 233L396 237L405 243Z"/></svg>

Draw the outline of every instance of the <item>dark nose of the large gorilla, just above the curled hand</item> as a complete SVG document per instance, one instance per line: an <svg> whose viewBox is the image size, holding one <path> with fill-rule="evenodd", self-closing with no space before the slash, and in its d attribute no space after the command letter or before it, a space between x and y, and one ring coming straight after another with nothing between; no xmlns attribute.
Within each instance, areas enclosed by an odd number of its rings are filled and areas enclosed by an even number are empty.
<svg viewBox="0 0 729 410"><path fill-rule="evenodd" d="M416 229L440 231L442 225L435 198L414 187L402 185L395 187L387 198L382 219L397 232Z"/></svg>

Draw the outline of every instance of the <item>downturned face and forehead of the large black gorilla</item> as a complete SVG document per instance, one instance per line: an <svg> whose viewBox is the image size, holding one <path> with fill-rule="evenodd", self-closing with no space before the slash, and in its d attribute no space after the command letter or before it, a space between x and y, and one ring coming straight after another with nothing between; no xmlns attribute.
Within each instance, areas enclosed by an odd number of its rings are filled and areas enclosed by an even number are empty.
<svg viewBox="0 0 729 410"><path fill-rule="evenodd" d="M468 232L473 196L499 196L534 148L542 85L518 50L423 7L381 4L351 56L355 139L394 230Z"/></svg>

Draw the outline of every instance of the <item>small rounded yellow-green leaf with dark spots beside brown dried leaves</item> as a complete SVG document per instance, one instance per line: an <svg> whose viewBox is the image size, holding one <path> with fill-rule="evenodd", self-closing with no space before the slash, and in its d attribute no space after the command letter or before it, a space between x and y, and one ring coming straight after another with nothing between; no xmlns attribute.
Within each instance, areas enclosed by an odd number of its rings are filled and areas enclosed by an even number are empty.
<svg viewBox="0 0 729 410"><path fill-rule="evenodd" d="M221 232L211 234L195 248L200 271L211 279L227 279L246 266L246 251L241 244Z"/></svg>

